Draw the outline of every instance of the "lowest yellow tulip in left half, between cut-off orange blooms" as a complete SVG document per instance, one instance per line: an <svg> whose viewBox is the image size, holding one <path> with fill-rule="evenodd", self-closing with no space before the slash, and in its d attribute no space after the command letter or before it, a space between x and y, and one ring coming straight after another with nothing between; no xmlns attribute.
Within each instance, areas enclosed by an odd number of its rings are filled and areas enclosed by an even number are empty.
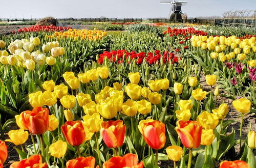
<svg viewBox="0 0 256 168"><path fill-rule="evenodd" d="M59 140L50 145L49 152L53 157L61 158L66 154L67 148L67 143Z"/></svg>

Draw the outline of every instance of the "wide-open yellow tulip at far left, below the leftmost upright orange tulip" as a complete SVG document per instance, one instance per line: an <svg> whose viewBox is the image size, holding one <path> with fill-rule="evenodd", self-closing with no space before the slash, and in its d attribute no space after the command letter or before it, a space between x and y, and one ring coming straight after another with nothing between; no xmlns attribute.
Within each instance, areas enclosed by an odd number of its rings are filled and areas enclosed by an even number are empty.
<svg viewBox="0 0 256 168"><path fill-rule="evenodd" d="M11 142L15 145L24 144L29 137L28 131L24 131L24 129L11 130L8 132L8 135L10 139L6 139L5 141Z"/></svg>

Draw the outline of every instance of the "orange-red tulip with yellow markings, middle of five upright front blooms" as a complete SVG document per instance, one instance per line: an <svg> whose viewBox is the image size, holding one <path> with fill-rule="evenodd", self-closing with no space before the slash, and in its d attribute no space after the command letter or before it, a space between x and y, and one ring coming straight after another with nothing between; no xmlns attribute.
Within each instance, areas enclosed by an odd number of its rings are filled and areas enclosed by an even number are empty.
<svg viewBox="0 0 256 168"><path fill-rule="evenodd" d="M118 148L123 145L126 127L123 125L122 120L102 122L101 126L100 134L106 146Z"/></svg>

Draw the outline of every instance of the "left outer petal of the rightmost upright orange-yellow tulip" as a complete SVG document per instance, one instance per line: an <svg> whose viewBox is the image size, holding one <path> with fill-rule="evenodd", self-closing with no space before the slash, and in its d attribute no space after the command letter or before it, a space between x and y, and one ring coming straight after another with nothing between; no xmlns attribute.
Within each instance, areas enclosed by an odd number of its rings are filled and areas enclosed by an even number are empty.
<svg viewBox="0 0 256 168"><path fill-rule="evenodd" d="M189 132L184 128L176 127L175 129L181 139L182 144L186 148L193 148L194 140L193 140L193 137L189 134Z"/></svg>

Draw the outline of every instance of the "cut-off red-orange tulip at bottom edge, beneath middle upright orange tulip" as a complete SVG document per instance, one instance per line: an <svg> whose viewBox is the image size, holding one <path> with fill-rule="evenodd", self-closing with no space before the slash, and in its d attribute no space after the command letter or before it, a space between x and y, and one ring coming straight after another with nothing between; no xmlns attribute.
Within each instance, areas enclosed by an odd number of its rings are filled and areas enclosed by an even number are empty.
<svg viewBox="0 0 256 168"><path fill-rule="evenodd" d="M135 154L128 153L121 156L115 156L104 162L103 168L143 168L143 162L138 163L138 158Z"/></svg>

